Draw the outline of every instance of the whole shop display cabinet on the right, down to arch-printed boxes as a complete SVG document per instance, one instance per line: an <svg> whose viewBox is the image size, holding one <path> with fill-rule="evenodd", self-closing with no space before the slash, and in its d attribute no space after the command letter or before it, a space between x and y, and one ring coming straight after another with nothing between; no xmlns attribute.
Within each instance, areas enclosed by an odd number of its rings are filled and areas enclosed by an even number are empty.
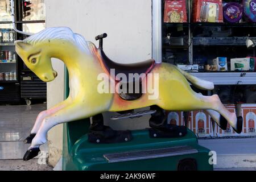
<svg viewBox="0 0 256 182"><path fill-rule="evenodd" d="M199 137L256 135L255 6L254 0L152 1L152 57L212 81L214 90L196 91L218 94L243 117L240 135L222 131L208 115L200 133L198 111L191 111L189 128Z"/></svg>

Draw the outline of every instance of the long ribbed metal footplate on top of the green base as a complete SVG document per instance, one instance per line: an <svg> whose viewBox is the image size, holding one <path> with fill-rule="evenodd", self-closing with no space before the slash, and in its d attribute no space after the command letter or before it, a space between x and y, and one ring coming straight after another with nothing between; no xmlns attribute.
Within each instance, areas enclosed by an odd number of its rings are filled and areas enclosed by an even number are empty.
<svg viewBox="0 0 256 182"><path fill-rule="evenodd" d="M152 149L152 150L140 150L140 151L104 154L103 156L106 160L108 160L109 163L117 163L117 162L126 162L126 161L132 161L132 160L164 158L168 156L196 154L196 153L198 153L198 151L191 146L179 146L179 147L169 147L169 148L158 148L158 149Z"/></svg>

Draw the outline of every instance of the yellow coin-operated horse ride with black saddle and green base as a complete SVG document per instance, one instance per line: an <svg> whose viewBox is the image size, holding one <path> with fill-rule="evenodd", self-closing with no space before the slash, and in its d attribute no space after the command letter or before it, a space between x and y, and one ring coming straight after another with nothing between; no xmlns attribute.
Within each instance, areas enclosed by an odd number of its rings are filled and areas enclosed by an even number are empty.
<svg viewBox="0 0 256 182"><path fill-rule="evenodd" d="M209 150L199 146L196 136L185 126L167 124L164 110L206 110L221 129L225 130L229 123L237 133L242 130L242 117L230 113L217 95L194 92L189 82L204 90L212 90L214 85L175 65L152 59L136 64L115 63L103 51L105 37L106 34L96 37L100 40L96 48L70 28L52 27L15 42L24 64L41 80L48 82L57 76L52 57L62 60L68 69L67 98L38 115L31 134L24 140L31 146L23 159L39 154L49 129L67 123L63 169L212 170ZM130 75L131 79L125 79ZM109 85L114 85L114 92ZM134 111L148 107L149 110ZM101 113L105 111L117 112L112 117L115 120L151 114L150 128L115 131L104 125Z"/></svg>

